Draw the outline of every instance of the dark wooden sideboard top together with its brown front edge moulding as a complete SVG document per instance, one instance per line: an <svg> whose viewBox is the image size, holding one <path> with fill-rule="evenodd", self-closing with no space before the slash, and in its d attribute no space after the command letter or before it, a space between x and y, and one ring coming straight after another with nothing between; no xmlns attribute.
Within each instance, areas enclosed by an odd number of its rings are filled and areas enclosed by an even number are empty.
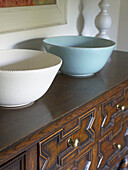
<svg viewBox="0 0 128 170"><path fill-rule="evenodd" d="M75 78L59 73L48 92L33 105L17 109L0 107L0 163L33 145L37 152L35 143L126 88L127 65L128 53L114 51L93 77ZM98 132L95 137L99 135Z"/></svg>

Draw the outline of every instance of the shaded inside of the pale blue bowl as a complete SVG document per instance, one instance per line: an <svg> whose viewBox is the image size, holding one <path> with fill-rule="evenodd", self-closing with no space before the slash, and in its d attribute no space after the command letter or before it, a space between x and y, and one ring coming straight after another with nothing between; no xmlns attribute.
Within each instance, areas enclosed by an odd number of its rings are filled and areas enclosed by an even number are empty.
<svg viewBox="0 0 128 170"><path fill-rule="evenodd" d="M59 36L47 38L44 43L75 48L102 48L115 45L111 40L85 36Z"/></svg>

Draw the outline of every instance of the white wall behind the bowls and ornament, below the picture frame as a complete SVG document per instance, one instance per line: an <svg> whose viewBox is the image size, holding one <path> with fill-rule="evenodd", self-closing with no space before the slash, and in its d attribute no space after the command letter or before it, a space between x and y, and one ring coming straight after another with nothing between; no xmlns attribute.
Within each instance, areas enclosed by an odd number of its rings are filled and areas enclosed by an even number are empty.
<svg viewBox="0 0 128 170"><path fill-rule="evenodd" d="M98 32L94 23L95 17L100 11L100 8L98 7L99 2L100 0L68 0L66 25L1 34L0 49L42 49L42 39L56 35L81 34L85 36L95 36ZM115 42L117 42L118 37L119 11L120 0L111 0L109 13L113 23L108 34ZM122 28L120 27L120 30L121 29Z"/></svg>

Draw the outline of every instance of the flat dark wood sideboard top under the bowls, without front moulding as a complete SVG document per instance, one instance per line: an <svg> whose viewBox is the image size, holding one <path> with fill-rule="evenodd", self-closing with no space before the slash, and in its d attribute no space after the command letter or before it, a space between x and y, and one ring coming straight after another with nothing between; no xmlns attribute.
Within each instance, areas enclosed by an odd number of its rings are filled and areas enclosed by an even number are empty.
<svg viewBox="0 0 128 170"><path fill-rule="evenodd" d="M58 74L47 93L33 105L19 109L0 107L0 151L127 79L128 53L119 51L114 51L105 67L93 77Z"/></svg>

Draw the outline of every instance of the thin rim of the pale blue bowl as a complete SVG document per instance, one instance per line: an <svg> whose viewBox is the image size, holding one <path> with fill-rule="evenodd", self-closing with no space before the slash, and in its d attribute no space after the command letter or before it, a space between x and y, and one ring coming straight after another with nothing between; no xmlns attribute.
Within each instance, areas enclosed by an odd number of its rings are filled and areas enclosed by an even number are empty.
<svg viewBox="0 0 128 170"><path fill-rule="evenodd" d="M52 39L52 38L59 38L59 37L84 37L84 38L92 38L92 39L98 39L98 40L105 40L109 41L112 43L112 45L106 46L106 47L92 47L92 48L82 48L82 47L68 47L68 46L63 46L63 45L55 45L53 43L46 42L46 40ZM65 35L65 36L54 36L54 37L48 37L43 39L43 44L49 44L55 47L63 47L63 48L68 48L68 49L81 49L81 50L97 50L97 49L104 49L104 48L110 48L110 47L115 47L116 43L113 40L105 39L105 38L98 38L98 37L92 37L92 36L82 36L82 35Z"/></svg>

